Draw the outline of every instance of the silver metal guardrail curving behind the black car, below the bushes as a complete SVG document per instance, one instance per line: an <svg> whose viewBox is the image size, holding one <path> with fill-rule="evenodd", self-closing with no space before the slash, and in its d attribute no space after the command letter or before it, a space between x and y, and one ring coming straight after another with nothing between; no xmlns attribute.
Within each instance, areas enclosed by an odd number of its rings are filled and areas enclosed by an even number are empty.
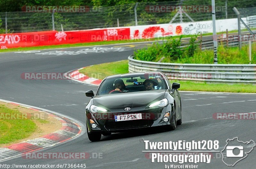
<svg viewBox="0 0 256 169"><path fill-rule="evenodd" d="M256 64L179 64L161 63L128 57L129 72L162 71L168 79L256 83Z"/></svg>

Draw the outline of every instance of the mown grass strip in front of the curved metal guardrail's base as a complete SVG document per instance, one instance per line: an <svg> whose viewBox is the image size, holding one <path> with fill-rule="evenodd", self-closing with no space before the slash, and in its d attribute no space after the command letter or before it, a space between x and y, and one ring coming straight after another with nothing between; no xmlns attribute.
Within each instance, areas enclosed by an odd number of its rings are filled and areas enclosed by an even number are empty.
<svg viewBox="0 0 256 169"><path fill-rule="evenodd" d="M98 74L98 79L104 79L106 76L113 74L128 73L128 60L121 60L117 62L102 63L85 67L79 71L88 76ZM92 76L90 76L92 77ZM252 84L226 84L226 83L206 83L203 81L178 81L171 80L171 82L180 83L180 89L183 91L207 91L207 92L235 92L235 93L256 93L256 86Z"/></svg>

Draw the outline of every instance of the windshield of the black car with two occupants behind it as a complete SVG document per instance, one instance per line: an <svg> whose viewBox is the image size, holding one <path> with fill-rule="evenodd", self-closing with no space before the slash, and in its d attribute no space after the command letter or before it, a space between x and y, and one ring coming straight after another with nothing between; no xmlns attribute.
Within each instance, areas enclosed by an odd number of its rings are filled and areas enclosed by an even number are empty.
<svg viewBox="0 0 256 169"><path fill-rule="evenodd" d="M161 74L136 74L104 80L96 95L164 90L167 84Z"/></svg>

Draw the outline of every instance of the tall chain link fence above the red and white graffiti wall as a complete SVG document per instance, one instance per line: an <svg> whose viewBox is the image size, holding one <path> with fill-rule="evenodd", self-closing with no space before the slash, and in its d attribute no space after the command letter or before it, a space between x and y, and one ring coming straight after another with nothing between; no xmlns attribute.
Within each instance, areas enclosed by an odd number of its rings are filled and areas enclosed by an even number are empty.
<svg viewBox="0 0 256 169"><path fill-rule="evenodd" d="M216 19L236 18L233 7L252 8L254 11L249 9L244 16L256 15L255 0L215 0L215 6ZM211 0L137 3L99 9L88 12L0 12L0 33L61 31L61 25L64 31L71 31L212 20Z"/></svg>

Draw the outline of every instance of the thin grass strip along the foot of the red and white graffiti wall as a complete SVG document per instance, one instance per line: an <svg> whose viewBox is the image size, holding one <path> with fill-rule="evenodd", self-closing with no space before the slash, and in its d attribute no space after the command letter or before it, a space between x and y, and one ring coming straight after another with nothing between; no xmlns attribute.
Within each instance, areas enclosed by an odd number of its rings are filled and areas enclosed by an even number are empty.
<svg viewBox="0 0 256 169"><path fill-rule="evenodd" d="M242 31L247 31L243 29ZM229 33L236 33L235 31L229 31ZM217 34L222 34L226 32L218 32ZM205 33L203 36L212 35L212 33ZM183 38L192 37L194 35L182 35ZM180 36L173 36L173 38L179 38ZM76 44L63 44L63 45L49 45L49 46L34 46L34 47L18 47L18 48L9 48L1 49L0 52L16 52L16 51L28 51L28 50L43 50L43 49L55 49L55 48L68 48L68 47L83 47L83 46L93 46L93 45L110 45L110 44L119 44L119 43L131 43L131 42L144 42L144 41L153 41L153 40L164 40L164 38L152 38L152 39L136 39L136 40L113 40L113 41L101 41L101 42L89 42L89 43L76 43Z"/></svg>

